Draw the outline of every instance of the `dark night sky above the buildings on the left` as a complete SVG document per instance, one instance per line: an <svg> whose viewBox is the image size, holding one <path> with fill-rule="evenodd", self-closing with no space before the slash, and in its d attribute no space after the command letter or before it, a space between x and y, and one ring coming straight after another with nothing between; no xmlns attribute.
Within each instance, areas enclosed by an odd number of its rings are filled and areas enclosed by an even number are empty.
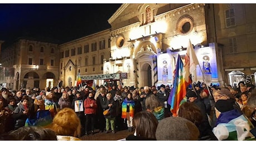
<svg viewBox="0 0 256 144"><path fill-rule="evenodd" d="M0 40L44 37L69 42L110 28L121 3L0 4Z"/></svg>

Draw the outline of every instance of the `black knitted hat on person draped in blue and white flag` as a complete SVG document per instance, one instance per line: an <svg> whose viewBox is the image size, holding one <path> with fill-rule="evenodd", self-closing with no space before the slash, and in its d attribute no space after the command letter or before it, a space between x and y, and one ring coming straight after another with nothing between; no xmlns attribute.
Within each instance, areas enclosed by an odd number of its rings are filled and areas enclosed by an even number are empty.
<svg viewBox="0 0 256 144"><path fill-rule="evenodd" d="M215 103L215 108L219 112L226 112L234 109L234 101L232 100L218 100Z"/></svg>

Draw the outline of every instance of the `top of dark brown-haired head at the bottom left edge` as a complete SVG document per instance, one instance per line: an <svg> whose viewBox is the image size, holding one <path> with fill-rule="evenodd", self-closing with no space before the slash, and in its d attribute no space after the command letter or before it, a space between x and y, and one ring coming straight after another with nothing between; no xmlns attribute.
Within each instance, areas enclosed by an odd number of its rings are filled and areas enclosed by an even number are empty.
<svg viewBox="0 0 256 144"><path fill-rule="evenodd" d="M20 127L8 133L15 141L57 141L56 132L50 128L37 126Z"/></svg>

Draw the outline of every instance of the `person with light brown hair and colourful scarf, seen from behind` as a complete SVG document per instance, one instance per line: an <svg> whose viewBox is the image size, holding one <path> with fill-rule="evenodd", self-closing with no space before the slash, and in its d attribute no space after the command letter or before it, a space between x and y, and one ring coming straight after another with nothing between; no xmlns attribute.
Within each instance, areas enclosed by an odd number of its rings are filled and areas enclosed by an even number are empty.
<svg viewBox="0 0 256 144"><path fill-rule="evenodd" d="M147 111L152 112L158 121L164 119L164 106L155 95L150 95L145 101Z"/></svg>

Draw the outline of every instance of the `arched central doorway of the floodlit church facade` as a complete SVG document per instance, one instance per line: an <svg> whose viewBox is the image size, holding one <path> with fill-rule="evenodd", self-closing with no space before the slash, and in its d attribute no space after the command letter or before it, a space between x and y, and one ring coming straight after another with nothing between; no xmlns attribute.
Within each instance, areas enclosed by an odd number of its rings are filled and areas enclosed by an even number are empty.
<svg viewBox="0 0 256 144"><path fill-rule="evenodd" d="M152 86L152 70L148 63L141 66L141 86Z"/></svg>

